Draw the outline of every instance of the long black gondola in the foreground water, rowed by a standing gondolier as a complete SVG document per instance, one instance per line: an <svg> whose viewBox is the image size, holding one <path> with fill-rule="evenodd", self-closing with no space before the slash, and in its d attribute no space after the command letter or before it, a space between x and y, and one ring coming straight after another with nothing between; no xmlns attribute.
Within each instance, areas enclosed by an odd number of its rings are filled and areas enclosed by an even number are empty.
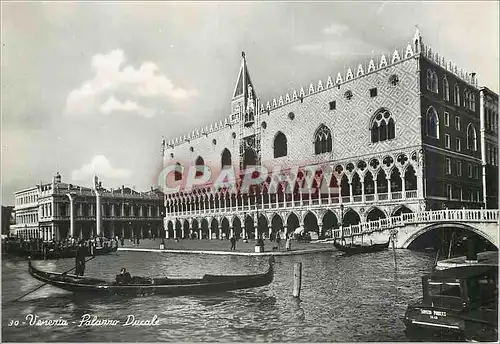
<svg viewBox="0 0 500 344"><path fill-rule="evenodd" d="M93 295L188 295L262 287L274 277L274 258L265 273L255 275L204 275L198 279L132 277L128 284L117 284L96 278L41 271L29 260L29 273L37 280L73 293Z"/></svg>

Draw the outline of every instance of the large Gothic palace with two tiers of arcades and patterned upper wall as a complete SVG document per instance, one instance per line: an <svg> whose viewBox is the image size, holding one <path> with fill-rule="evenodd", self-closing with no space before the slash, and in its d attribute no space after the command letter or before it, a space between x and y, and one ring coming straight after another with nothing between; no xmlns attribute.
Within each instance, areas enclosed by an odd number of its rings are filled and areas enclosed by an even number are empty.
<svg viewBox="0 0 500 344"><path fill-rule="evenodd" d="M168 183L182 184L193 165L214 175L326 165L333 173L313 185L339 191L299 192L306 182L299 173L290 193L283 184L271 190L269 179L249 194L210 182L166 193L167 237L321 232L418 210L484 207L477 85L475 73L425 45L418 29L403 49L267 102L243 53L230 113L162 141L163 166L179 168Z"/></svg>

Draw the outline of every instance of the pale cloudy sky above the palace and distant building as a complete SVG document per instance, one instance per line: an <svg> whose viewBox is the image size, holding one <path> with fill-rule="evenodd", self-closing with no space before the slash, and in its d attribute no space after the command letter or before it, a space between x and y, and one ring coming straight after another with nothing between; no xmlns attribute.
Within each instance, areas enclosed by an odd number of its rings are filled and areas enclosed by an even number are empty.
<svg viewBox="0 0 500 344"><path fill-rule="evenodd" d="M149 190L167 140L423 41L499 89L499 2L1 2L2 204L49 182Z"/></svg>

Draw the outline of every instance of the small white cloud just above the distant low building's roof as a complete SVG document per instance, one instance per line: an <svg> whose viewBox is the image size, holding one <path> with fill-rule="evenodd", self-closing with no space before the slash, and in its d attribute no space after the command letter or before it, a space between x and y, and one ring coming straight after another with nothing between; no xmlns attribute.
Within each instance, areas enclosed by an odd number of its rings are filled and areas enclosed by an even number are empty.
<svg viewBox="0 0 500 344"><path fill-rule="evenodd" d="M77 170L73 170L73 172L71 172L71 179L74 181L90 181L94 175L105 178L128 179L132 176L132 171L114 168L104 155L96 155L89 164L83 165Z"/></svg>

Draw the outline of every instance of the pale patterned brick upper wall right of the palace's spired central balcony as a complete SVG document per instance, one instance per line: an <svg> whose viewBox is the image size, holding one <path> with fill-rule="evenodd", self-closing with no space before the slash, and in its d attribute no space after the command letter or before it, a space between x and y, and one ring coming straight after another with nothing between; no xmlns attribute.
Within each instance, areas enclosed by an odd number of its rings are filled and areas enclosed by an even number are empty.
<svg viewBox="0 0 500 344"><path fill-rule="evenodd" d="M417 60L410 58L347 83L306 96L270 113L263 113L266 122L262 130L262 161L265 164L302 164L370 157L421 144L420 96ZM389 83L397 75L399 85ZM370 89L378 95L370 97ZM350 90L351 100L344 97ZM330 110L329 102L336 101ZM395 139L371 143L370 122L379 108L388 109L395 120ZM293 112L294 119L289 118ZM314 134L320 124L328 126L333 135L333 151L314 154ZM258 125L256 123L256 125ZM288 155L274 159L273 141L278 131L287 137Z"/></svg>

